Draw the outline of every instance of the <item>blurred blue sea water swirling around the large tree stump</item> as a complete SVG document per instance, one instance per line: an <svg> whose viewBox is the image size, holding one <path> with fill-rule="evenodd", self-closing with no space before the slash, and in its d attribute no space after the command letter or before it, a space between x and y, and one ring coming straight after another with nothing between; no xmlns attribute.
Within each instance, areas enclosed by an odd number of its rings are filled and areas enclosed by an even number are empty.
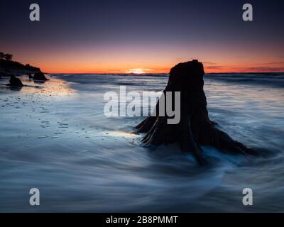
<svg viewBox="0 0 284 227"><path fill-rule="evenodd" d="M53 74L29 87L0 80L0 211L283 211L284 74L206 74L209 117L261 152L143 147L144 117L104 116L104 93L161 91L166 74ZM152 104L155 105L155 104ZM40 206L29 204L31 188ZM253 206L242 204L244 188Z"/></svg>

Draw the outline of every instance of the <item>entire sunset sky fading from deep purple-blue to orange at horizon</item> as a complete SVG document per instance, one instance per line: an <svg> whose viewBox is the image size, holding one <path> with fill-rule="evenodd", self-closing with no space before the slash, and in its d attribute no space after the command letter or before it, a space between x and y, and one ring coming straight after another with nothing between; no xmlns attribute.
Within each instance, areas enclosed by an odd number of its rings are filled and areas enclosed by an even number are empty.
<svg viewBox="0 0 284 227"><path fill-rule="evenodd" d="M40 5L40 21L29 6ZM253 5L253 21L242 6ZM1 1L0 51L50 73L284 72L284 1Z"/></svg>

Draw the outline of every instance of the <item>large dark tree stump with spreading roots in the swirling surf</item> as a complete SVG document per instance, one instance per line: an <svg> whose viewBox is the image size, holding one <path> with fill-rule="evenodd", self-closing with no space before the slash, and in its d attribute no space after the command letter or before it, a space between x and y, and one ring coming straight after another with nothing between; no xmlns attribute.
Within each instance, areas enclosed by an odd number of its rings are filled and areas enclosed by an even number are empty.
<svg viewBox="0 0 284 227"><path fill-rule="evenodd" d="M159 100L155 106L156 116L149 116L136 126L137 133L146 133L143 143L178 142L182 151L192 152L200 163L204 162L200 145L212 145L229 153L255 154L254 150L232 139L216 127L217 123L210 121L203 76L203 65L198 60L180 63L170 70L168 85L163 92L180 92L180 123L171 125L167 123L169 116L159 116Z"/></svg>

